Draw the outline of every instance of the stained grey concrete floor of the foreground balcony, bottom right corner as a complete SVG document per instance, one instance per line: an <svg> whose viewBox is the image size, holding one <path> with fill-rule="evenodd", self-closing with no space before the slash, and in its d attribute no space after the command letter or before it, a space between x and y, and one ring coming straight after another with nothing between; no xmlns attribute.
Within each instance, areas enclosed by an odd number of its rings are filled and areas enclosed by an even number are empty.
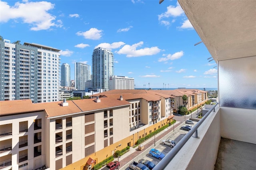
<svg viewBox="0 0 256 170"><path fill-rule="evenodd" d="M256 169L256 144L221 138L214 170L242 169Z"/></svg>

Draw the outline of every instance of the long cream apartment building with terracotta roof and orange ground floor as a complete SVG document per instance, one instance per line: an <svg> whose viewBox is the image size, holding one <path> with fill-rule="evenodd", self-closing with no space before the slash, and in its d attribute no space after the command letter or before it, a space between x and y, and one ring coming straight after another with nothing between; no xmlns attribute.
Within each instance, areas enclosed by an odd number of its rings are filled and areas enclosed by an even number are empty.
<svg viewBox="0 0 256 170"><path fill-rule="evenodd" d="M1 101L0 168L90 169L170 123L162 113L166 107L161 109L169 98L118 94L36 104Z"/></svg>

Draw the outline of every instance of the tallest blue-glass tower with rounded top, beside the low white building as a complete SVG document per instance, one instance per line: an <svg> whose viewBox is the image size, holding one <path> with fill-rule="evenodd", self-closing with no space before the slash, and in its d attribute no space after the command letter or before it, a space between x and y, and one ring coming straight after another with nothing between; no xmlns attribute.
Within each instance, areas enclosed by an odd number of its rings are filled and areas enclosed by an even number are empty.
<svg viewBox="0 0 256 170"><path fill-rule="evenodd" d="M114 55L109 49L95 48L92 53L93 89L108 91L110 76L114 75Z"/></svg>

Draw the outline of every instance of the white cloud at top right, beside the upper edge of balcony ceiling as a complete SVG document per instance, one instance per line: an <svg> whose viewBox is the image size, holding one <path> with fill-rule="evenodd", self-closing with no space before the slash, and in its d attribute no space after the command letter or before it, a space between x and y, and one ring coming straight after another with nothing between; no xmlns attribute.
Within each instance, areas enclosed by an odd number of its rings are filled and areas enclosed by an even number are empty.
<svg viewBox="0 0 256 170"><path fill-rule="evenodd" d="M180 7L180 4L177 2L177 6L168 6L167 11L158 15L158 20L162 20L162 18L169 18L170 16L176 17L181 16L184 13L182 8Z"/></svg>

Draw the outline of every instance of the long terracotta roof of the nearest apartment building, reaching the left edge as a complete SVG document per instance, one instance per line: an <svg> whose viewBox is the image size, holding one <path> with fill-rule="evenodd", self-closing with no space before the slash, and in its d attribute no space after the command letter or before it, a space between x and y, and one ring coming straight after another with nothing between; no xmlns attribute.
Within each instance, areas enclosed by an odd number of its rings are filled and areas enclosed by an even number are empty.
<svg viewBox="0 0 256 170"><path fill-rule="evenodd" d="M120 101L113 98L100 98L99 103L96 103L94 100L95 99L82 99L66 101L68 106L64 107L61 105L62 101L48 103L32 103L31 100L0 101L0 116L45 110L46 117L55 117L109 107L130 105L128 101Z"/></svg>

